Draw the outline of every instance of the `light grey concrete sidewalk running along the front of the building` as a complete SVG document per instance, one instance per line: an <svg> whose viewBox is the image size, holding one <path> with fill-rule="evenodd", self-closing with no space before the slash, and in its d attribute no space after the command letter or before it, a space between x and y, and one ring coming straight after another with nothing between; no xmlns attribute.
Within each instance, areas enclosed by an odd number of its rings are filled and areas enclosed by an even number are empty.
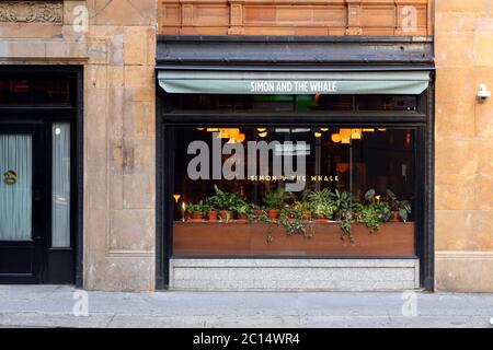
<svg viewBox="0 0 493 350"><path fill-rule="evenodd" d="M417 293L413 304L402 293L342 292L89 292L89 315L74 316L85 295L74 292L0 285L0 327L492 327L493 317L493 294ZM417 316L404 316L404 303Z"/></svg>

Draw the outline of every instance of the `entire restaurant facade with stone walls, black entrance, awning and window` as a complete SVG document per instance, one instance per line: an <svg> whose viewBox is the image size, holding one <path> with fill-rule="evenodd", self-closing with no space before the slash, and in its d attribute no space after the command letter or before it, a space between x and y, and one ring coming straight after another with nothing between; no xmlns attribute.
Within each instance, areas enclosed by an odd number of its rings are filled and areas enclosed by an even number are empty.
<svg viewBox="0 0 493 350"><path fill-rule="evenodd" d="M482 1L7 2L0 282L493 290Z"/></svg>

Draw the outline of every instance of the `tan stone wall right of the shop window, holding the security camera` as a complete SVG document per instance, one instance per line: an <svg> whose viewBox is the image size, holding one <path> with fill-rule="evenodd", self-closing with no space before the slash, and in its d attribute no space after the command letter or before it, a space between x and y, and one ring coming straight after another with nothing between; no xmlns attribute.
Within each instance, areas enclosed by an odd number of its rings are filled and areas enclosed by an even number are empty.
<svg viewBox="0 0 493 350"><path fill-rule="evenodd" d="M436 288L493 292L493 1L435 2Z"/></svg>

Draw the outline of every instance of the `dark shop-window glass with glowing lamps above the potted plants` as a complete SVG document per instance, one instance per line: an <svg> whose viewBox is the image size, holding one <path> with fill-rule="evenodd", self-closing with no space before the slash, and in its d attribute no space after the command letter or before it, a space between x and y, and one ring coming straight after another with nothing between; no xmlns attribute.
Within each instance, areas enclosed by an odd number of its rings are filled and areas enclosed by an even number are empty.
<svg viewBox="0 0 493 350"><path fill-rule="evenodd" d="M263 206L266 194L277 188L285 188L289 178L275 178L273 175L274 158L279 154L306 154L306 178L301 190L293 191L294 200L301 200L305 192L330 188L332 190L351 191L356 200L363 200L368 189L376 195L386 196L391 189L400 198L414 200L415 180L415 130L375 128L339 128L332 126L308 128L274 127L229 127L221 131L220 127L181 127L176 128L174 145L174 188L173 194L180 202L199 202L214 194L214 186L236 192L249 202ZM249 141L278 141L280 147L271 152L268 170L271 177L250 176L249 160L244 159L244 178L213 178L213 154L208 167L209 179L191 179L188 165L195 154L188 153L188 145L194 141L203 141L213 150L214 132L218 132L220 145L237 142L248 153ZM221 133L222 132L222 133ZM286 145L286 142L305 142L302 147ZM284 153L283 153L284 152ZM220 163L225 164L231 155L221 154ZM260 163L256 168L260 174ZM174 220L182 219L177 207Z"/></svg>

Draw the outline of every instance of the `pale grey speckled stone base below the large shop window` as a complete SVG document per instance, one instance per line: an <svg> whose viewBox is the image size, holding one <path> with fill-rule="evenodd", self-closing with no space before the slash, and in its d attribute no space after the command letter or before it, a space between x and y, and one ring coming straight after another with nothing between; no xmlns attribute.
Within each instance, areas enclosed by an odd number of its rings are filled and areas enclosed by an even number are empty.
<svg viewBox="0 0 493 350"><path fill-rule="evenodd" d="M419 259L172 259L171 290L401 291L420 288Z"/></svg>

